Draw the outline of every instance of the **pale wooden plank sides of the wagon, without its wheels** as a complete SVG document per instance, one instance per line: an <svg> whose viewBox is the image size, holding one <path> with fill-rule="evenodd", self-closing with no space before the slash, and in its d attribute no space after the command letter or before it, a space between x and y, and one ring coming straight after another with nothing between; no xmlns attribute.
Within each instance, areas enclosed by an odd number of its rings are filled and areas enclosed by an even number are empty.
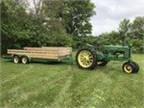
<svg viewBox="0 0 144 108"><path fill-rule="evenodd" d="M21 49L8 49L8 54L28 56L31 58L59 59L71 55L71 47L24 47Z"/></svg>

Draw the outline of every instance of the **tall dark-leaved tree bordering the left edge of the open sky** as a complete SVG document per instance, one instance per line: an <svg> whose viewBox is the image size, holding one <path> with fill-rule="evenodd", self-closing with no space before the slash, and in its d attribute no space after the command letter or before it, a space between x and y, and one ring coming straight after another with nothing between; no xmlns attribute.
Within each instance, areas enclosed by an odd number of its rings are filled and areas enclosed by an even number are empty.
<svg viewBox="0 0 144 108"><path fill-rule="evenodd" d="M61 16L65 22L67 33L73 36L91 34L90 17L95 14L95 5L90 0L69 0L64 2Z"/></svg>

